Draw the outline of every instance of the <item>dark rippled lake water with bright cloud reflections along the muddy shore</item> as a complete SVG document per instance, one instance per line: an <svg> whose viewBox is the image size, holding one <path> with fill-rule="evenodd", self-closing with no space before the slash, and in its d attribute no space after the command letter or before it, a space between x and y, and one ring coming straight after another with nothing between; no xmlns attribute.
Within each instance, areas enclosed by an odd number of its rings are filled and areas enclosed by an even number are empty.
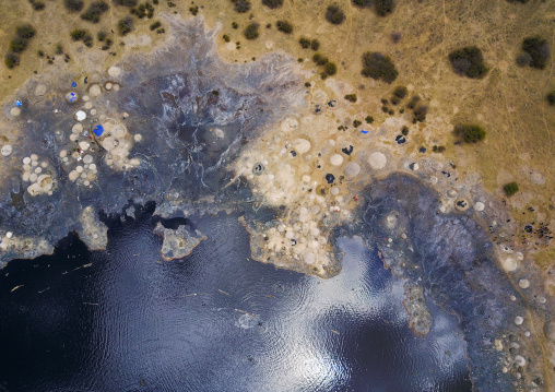
<svg viewBox="0 0 555 392"><path fill-rule="evenodd" d="M88 254L76 243L4 270L0 385L470 391L457 319L432 306L432 333L414 337L402 282L361 240L340 240L342 273L323 281L250 260L236 215L201 219L209 239L174 262L156 262L161 240L152 226L110 230L106 252ZM61 274L91 261L90 269ZM25 286L10 294L17 284Z"/></svg>

